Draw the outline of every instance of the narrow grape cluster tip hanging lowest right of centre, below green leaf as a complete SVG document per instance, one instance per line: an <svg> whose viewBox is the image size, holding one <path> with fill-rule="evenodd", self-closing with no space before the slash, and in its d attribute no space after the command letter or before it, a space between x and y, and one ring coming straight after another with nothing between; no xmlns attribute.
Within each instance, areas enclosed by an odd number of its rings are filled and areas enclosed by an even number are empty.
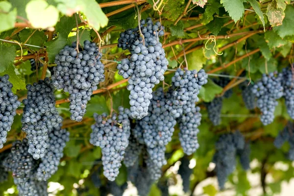
<svg viewBox="0 0 294 196"><path fill-rule="evenodd" d="M178 119L180 128L179 140L186 154L191 155L198 149L197 134L199 133L198 126L201 121L200 108L195 107L193 111L181 116Z"/></svg>

